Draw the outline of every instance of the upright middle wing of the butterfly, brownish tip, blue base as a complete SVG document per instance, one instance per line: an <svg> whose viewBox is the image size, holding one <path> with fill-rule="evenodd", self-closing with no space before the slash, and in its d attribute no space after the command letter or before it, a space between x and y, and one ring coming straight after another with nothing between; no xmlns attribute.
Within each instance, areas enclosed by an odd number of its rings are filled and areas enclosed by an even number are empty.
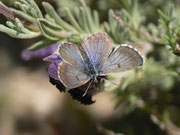
<svg viewBox="0 0 180 135"><path fill-rule="evenodd" d="M96 69L112 51L112 40L105 33L96 33L89 36L82 44L92 64Z"/></svg>

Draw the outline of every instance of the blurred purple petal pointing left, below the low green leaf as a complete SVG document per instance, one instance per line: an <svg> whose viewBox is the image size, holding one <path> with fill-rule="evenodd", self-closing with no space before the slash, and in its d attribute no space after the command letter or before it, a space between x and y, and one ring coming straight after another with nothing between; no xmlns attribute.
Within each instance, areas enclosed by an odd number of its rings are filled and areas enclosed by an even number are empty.
<svg viewBox="0 0 180 135"><path fill-rule="evenodd" d="M54 53L58 48L58 44L54 44L48 47L44 47L42 49L39 49L37 51L29 51L28 49L25 49L22 53L21 53L21 57L22 59L28 61L32 58L40 58L43 59L49 55L51 55L52 53Z"/></svg>

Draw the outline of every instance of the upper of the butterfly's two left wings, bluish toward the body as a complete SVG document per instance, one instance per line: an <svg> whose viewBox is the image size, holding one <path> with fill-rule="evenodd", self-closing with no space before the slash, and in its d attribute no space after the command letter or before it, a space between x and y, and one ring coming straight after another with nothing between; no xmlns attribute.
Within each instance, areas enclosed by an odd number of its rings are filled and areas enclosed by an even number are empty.
<svg viewBox="0 0 180 135"><path fill-rule="evenodd" d="M69 42L62 43L59 47L59 53L64 61L70 63L74 67L84 68L84 62L77 45Z"/></svg>

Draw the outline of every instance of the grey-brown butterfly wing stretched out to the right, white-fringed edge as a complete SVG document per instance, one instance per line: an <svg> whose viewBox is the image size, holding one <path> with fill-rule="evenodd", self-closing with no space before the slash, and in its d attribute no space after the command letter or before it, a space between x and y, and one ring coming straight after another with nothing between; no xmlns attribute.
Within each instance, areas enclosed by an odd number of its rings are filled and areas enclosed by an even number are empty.
<svg viewBox="0 0 180 135"><path fill-rule="evenodd" d="M117 47L103 63L100 74L131 70L143 64L143 57L132 46Z"/></svg>

